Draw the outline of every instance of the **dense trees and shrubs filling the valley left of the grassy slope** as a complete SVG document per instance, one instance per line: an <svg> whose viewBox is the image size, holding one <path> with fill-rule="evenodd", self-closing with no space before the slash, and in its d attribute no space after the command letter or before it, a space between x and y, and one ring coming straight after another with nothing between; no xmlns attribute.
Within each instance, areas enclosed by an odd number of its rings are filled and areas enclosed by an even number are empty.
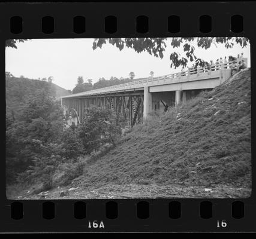
<svg viewBox="0 0 256 239"><path fill-rule="evenodd" d="M7 77L5 163L7 197L40 193L83 173L86 154L121 136L120 117L89 108L83 124L67 128L52 82ZM108 148L106 146L105 148Z"/></svg>

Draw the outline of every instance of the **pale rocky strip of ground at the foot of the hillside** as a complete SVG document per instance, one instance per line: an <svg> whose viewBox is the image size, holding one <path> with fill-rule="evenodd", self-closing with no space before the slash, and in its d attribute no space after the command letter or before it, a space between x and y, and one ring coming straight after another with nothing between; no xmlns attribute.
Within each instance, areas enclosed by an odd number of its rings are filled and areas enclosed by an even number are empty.
<svg viewBox="0 0 256 239"><path fill-rule="evenodd" d="M23 191L14 200L34 199L112 199L112 198L246 198L251 195L248 188L233 188L228 185L181 186L181 185L106 185L98 188L58 187L50 191L31 194Z"/></svg>

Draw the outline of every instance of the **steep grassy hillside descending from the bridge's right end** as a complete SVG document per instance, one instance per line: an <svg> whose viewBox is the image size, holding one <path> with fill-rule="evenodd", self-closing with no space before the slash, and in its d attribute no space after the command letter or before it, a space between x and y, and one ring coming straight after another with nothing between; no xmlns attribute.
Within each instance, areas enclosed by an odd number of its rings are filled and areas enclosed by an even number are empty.
<svg viewBox="0 0 256 239"><path fill-rule="evenodd" d="M91 160L73 185L129 183L250 189L250 70L135 126L116 148Z"/></svg>

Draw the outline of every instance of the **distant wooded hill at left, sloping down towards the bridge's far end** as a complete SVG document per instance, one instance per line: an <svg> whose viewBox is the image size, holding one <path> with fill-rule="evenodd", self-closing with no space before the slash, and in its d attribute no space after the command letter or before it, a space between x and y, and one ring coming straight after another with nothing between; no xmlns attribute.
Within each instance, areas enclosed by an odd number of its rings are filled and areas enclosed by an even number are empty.
<svg viewBox="0 0 256 239"><path fill-rule="evenodd" d="M68 90L54 83L40 81L38 79L7 76L5 78L6 114L19 114L26 97L29 95L35 96L37 91L42 89L50 90L50 93L56 97L56 100L59 100L61 96L71 94Z"/></svg>

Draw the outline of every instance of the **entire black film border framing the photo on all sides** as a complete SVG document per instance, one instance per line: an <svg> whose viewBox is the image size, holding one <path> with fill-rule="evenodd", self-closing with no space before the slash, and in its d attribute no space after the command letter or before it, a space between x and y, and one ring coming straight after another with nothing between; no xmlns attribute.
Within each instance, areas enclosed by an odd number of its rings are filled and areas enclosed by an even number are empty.
<svg viewBox="0 0 256 239"><path fill-rule="evenodd" d="M255 2L1 4L0 44L10 38L246 36L253 65L255 7ZM4 47L0 57L4 62ZM4 71L1 65L1 75ZM253 112L252 105L252 117ZM241 200L11 201L5 198L5 174L0 177L1 231L252 231L256 224L254 178L251 197Z"/></svg>

